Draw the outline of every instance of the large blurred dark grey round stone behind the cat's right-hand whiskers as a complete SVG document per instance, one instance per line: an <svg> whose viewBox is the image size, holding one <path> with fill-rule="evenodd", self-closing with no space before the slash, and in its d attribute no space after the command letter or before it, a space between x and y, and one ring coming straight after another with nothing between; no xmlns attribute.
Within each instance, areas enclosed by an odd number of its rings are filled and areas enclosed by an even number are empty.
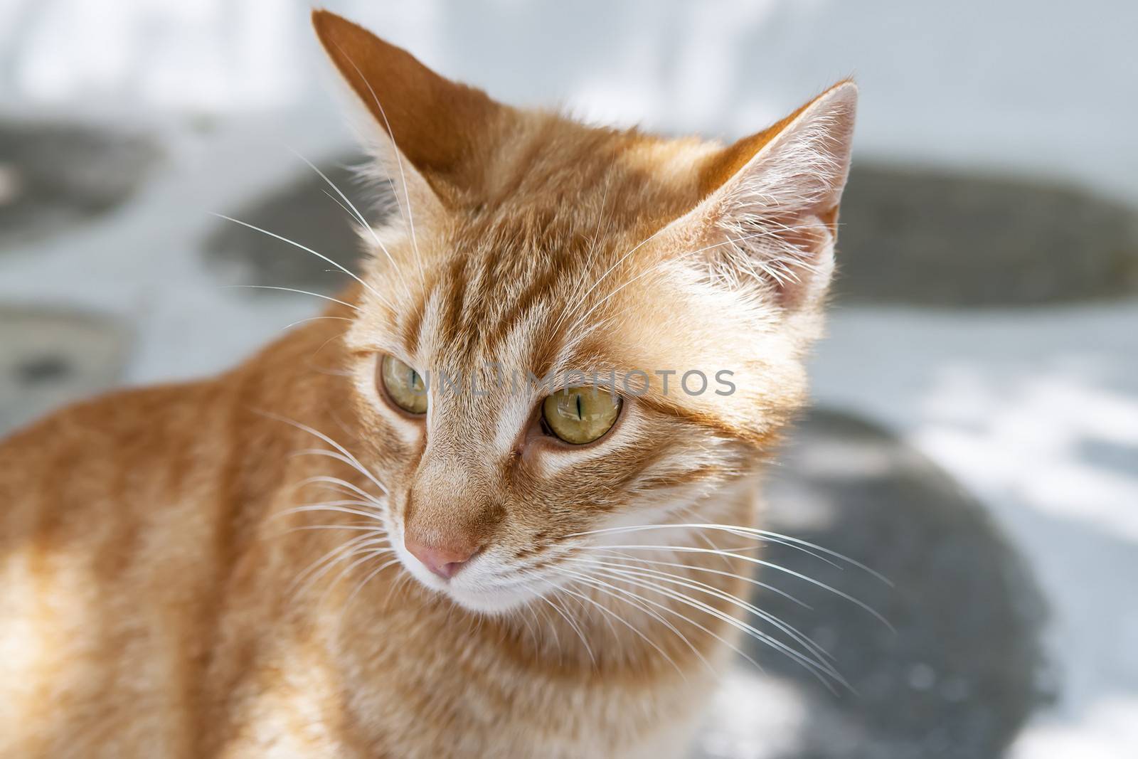
<svg viewBox="0 0 1138 759"><path fill-rule="evenodd" d="M857 559L894 586L785 545L769 545L764 558L864 601L896 627L891 633L833 593L764 571L765 581L813 610L769 592L752 601L827 649L857 692L832 694L752 642L748 652L768 676L793 683L808 704L798 748L782 756L1000 756L1050 699L1052 678L1037 637L1044 602L997 526L931 462L840 412L811 413L781 461L768 480L768 529Z"/></svg>

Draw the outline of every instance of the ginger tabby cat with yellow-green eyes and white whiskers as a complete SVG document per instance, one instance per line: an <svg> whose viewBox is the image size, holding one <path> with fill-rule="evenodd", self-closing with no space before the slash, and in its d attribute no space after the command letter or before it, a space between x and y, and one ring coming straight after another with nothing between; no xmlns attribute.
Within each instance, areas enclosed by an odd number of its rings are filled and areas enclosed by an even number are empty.
<svg viewBox="0 0 1138 759"><path fill-rule="evenodd" d="M313 23L398 208L332 319L0 445L0 756L675 757L737 635L827 675L737 599L853 84L724 147Z"/></svg>

